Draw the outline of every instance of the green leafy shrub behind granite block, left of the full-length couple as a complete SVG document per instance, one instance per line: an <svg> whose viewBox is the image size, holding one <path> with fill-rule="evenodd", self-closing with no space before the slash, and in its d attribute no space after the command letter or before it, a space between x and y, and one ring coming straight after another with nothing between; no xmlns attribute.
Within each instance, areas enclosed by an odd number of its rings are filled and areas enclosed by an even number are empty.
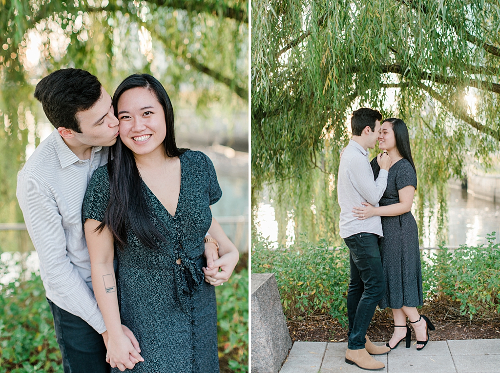
<svg viewBox="0 0 500 373"><path fill-rule="evenodd" d="M288 317L328 312L346 325L347 248L329 249L324 240L315 245L299 240L290 249L276 250L262 239L252 241L252 245L252 273L275 273Z"/></svg>

